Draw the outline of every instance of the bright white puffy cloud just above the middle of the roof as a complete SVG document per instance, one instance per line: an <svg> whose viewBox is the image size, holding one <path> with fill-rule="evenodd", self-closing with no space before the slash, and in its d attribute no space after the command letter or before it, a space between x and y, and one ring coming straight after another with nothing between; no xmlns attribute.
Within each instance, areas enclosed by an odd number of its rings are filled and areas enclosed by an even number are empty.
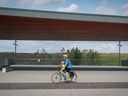
<svg viewBox="0 0 128 96"><path fill-rule="evenodd" d="M60 7L57 11L61 11L61 12L76 12L78 9L78 5L77 4L71 4L69 7Z"/></svg>

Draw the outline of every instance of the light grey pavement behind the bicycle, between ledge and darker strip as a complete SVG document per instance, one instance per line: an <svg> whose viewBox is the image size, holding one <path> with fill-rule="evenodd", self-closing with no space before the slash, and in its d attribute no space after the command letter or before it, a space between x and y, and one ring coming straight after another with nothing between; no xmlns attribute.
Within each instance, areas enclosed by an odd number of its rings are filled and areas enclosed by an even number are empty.
<svg viewBox="0 0 128 96"><path fill-rule="evenodd" d="M0 72L0 83L51 83L56 71ZM76 71L77 82L128 82L128 71Z"/></svg>

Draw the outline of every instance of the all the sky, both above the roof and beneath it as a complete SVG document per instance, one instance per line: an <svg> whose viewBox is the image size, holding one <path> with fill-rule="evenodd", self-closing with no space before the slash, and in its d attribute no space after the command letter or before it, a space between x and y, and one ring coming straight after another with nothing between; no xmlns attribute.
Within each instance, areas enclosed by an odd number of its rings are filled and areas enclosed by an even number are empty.
<svg viewBox="0 0 128 96"><path fill-rule="evenodd" d="M0 0L0 7L128 16L128 0ZM13 52L14 40L0 40L0 52ZM128 53L128 42L122 41L122 53ZM62 47L94 49L118 53L118 41L18 41L18 52L60 52Z"/></svg>

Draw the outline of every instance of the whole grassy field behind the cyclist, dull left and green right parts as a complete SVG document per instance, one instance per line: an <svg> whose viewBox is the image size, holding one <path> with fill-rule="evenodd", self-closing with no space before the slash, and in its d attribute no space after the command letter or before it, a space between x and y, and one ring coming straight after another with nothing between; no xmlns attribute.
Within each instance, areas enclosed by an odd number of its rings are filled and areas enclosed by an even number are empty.
<svg viewBox="0 0 128 96"><path fill-rule="evenodd" d="M25 65L58 65L60 61L62 60L62 54L61 53L53 53L53 54L0 54L0 57L6 57L13 59L16 56L14 60L9 60L10 64L25 64ZM0 58L0 64L3 64L4 59ZM40 62L38 62L38 59L40 59ZM2 61L3 60L3 61ZM128 60L128 53L127 54L121 54L121 60ZM119 66L119 54L118 53L100 53L99 57L95 60L87 60L86 56L83 54L83 57L81 59L80 65L89 65L89 66Z"/></svg>

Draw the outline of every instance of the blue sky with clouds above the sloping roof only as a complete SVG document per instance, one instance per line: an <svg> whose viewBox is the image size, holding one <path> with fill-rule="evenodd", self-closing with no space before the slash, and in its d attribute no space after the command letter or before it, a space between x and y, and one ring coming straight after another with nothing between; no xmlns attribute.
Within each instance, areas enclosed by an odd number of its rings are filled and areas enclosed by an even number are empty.
<svg viewBox="0 0 128 96"><path fill-rule="evenodd" d="M128 0L0 0L1 7L128 15Z"/></svg>

